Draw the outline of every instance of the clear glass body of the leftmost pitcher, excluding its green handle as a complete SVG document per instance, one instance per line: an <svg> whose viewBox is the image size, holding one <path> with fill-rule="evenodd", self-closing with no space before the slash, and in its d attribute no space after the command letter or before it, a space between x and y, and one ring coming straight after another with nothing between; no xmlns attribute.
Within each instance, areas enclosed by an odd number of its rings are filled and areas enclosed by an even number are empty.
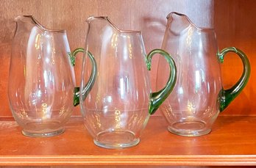
<svg viewBox="0 0 256 168"><path fill-rule="evenodd" d="M56 136L74 108L66 33L46 29L32 16L15 21L8 86L13 117L26 136Z"/></svg>

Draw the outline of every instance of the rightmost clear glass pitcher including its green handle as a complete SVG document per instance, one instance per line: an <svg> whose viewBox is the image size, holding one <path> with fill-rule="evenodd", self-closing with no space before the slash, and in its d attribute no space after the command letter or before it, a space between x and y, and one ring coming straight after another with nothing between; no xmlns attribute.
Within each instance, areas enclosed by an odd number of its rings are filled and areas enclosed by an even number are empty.
<svg viewBox="0 0 256 168"><path fill-rule="evenodd" d="M162 49L173 56L177 65L177 84L160 106L168 122L168 131L182 136L208 134L218 113L243 90L249 79L250 65L238 48L218 51L213 29L196 27L186 15L171 12L168 16ZM243 74L229 90L221 84L220 63L234 52L243 62ZM157 88L166 82L166 62L160 58Z"/></svg>

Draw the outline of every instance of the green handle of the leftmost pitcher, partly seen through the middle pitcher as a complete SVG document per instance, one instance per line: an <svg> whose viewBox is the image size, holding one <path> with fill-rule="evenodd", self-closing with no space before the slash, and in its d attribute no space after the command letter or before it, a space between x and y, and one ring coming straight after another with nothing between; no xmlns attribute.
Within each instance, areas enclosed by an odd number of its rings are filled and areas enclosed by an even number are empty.
<svg viewBox="0 0 256 168"><path fill-rule="evenodd" d="M74 62L75 62L75 57L79 52L84 53L85 49L84 48L76 48L74 51L72 51L70 54L71 62L72 62L72 59L74 59ZM94 56L93 56L93 54L90 53L90 51L86 51L86 52L90 58L90 62L92 64L92 70L90 73L90 78L88 80L88 83L85 85L84 89L82 90L82 100L85 100L86 96L92 89L93 84L96 80L96 74L97 74L96 60L94 59ZM74 62L72 62L72 65L74 65ZM74 106L79 105L79 93L80 93L79 90L80 90L79 87L74 88Z"/></svg>

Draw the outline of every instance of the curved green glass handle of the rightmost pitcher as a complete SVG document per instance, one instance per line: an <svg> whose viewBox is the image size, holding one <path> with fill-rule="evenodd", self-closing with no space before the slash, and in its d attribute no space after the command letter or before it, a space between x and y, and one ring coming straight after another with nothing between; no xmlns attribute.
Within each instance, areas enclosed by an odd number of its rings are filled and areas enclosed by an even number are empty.
<svg viewBox="0 0 256 168"><path fill-rule="evenodd" d="M221 92L218 94L218 99L220 100L220 112L226 109L231 101L233 101L243 90L249 80L249 76L251 73L249 59L247 58L246 54L244 54L243 51L239 50L238 48L224 48L220 53L217 54L219 62L224 62L224 56L229 52L238 54L243 62L243 73L233 87L228 90L222 89Z"/></svg>

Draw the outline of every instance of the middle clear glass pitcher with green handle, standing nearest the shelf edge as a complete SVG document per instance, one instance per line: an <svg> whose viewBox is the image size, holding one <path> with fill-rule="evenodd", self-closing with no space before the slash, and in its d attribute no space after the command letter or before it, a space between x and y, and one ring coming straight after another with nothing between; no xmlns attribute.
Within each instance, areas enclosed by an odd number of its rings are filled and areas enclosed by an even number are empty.
<svg viewBox="0 0 256 168"><path fill-rule="evenodd" d="M79 95L85 126L99 147L132 147L174 87L175 64L160 49L146 56L141 32L120 30L107 17L91 16L87 23ZM163 55L171 69L159 92L151 92L149 83L154 54Z"/></svg>

